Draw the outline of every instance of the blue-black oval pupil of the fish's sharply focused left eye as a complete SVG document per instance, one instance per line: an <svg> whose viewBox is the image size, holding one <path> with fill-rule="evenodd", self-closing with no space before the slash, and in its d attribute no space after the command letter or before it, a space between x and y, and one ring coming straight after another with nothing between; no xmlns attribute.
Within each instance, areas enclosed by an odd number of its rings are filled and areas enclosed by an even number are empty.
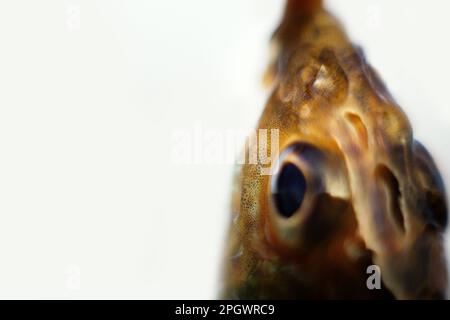
<svg viewBox="0 0 450 320"><path fill-rule="evenodd" d="M305 191L303 173L292 163L284 165L275 181L275 190L272 190L280 214L291 217L302 204Z"/></svg>

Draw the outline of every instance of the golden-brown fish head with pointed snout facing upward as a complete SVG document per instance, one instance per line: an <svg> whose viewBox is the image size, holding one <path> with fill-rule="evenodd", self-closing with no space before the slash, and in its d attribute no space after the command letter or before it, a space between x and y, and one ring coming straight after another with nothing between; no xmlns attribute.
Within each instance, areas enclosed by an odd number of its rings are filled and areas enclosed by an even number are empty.
<svg viewBox="0 0 450 320"><path fill-rule="evenodd" d="M446 298L444 182L363 50L320 0L288 0L271 48L278 152L236 170L219 296Z"/></svg>

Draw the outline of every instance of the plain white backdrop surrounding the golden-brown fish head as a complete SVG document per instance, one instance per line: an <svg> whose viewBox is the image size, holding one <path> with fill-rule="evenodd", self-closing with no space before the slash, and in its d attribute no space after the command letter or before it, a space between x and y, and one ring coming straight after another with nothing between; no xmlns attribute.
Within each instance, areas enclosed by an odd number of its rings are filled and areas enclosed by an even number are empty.
<svg viewBox="0 0 450 320"><path fill-rule="evenodd" d="M214 298L230 165L176 130L249 129L279 0L0 2L0 298ZM329 1L450 184L450 4Z"/></svg>

